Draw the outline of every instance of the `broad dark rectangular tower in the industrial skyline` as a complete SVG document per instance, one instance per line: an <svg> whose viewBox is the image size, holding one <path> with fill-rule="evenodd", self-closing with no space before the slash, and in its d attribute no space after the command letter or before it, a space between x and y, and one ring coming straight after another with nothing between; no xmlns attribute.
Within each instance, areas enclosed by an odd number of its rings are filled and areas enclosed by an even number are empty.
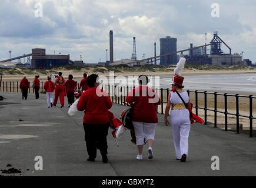
<svg viewBox="0 0 256 188"><path fill-rule="evenodd" d="M160 39L160 55L171 52L177 52L177 38L166 36ZM174 53L160 58L160 65L175 65L177 63L177 54Z"/></svg>

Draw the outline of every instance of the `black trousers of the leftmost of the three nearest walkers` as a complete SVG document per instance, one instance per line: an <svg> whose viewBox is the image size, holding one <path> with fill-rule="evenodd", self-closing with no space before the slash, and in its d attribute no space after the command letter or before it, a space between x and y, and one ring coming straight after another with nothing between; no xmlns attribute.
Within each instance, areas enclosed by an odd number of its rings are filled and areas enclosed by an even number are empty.
<svg viewBox="0 0 256 188"><path fill-rule="evenodd" d="M85 142L90 158L96 158L97 148L101 151L102 156L108 154L108 127L109 123L103 125L89 125L84 123Z"/></svg>

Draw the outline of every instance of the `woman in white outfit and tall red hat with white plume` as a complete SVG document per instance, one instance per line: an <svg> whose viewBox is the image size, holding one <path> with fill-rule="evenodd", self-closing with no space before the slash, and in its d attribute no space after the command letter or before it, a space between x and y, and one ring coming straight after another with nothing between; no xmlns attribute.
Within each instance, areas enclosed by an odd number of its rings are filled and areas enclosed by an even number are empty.
<svg viewBox="0 0 256 188"><path fill-rule="evenodd" d="M174 79L172 80L172 91L169 93L164 117L165 125L168 126L169 121L167 117L169 114L169 109L171 108L170 122L174 137L175 154L176 159L180 160L181 162L185 162L188 156L188 136L191 127L189 110L185 107L181 100L181 98L184 99L187 107L189 109L191 108L188 93L182 90L182 88L184 88L184 86L182 86L184 77L180 76L180 71L184 68L185 61L185 58L181 58L177 64L177 69L175 68L174 70L175 75ZM181 98L179 98L177 92Z"/></svg>

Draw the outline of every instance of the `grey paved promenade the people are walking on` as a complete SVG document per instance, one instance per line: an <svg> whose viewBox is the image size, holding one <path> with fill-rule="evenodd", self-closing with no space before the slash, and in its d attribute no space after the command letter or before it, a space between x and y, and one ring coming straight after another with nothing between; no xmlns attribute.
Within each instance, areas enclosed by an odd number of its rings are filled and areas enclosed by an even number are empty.
<svg viewBox="0 0 256 188"><path fill-rule="evenodd" d="M102 163L99 150L96 162L87 162L84 113L69 116L67 98L61 109L59 101L56 107L47 108L45 94L37 100L34 94L28 100L22 100L21 93L0 95L5 98L0 101L2 170L11 164L21 169L22 176L256 176L255 137L195 123L187 162L181 163L175 160L172 129L164 125L164 115L158 115L152 160L147 159L147 147L144 160L136 160L137 147L130 142L128 131L118 139L117 147L109 130L109 163ZM114 104L111 111L119 117L125 108ZM36 156L42 156L43 170L35 170ZM212 156L220 158L220 170L211 169Z"/></svg>

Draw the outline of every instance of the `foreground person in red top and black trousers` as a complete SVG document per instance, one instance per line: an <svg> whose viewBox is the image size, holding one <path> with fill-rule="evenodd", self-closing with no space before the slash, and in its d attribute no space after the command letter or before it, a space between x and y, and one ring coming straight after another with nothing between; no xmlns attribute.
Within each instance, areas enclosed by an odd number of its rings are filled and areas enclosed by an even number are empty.
<svg viewBox="0 0 256 188"><path fill-rule="evenodd" d="M108 109L112 107L107 92L99 89L98 75L92 74L87 78L89 89L82 93L77 109L84 112L85 142L87 144L88 161L94 162L97 147L101 151L102 162L107 163L107 135L109 127ZM102 94L102 95L101 95Z"/></svg>

